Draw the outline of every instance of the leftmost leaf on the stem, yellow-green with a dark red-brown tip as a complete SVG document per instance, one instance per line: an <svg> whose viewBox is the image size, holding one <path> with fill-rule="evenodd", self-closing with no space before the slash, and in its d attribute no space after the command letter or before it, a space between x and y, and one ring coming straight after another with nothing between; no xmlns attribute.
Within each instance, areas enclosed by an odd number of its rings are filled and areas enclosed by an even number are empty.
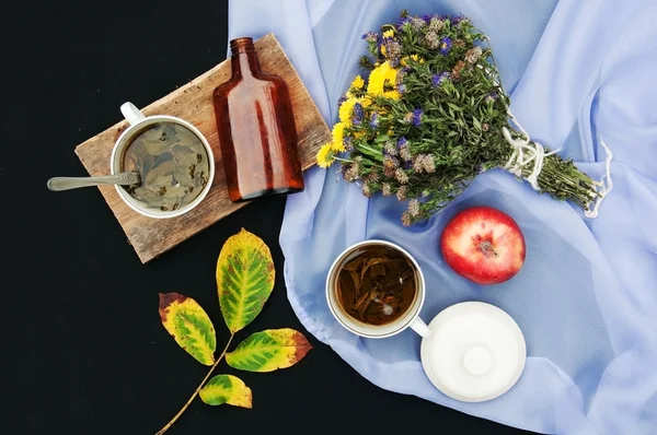
<svg viewBox="0 0 657 435"><path fill-rule="evenodd" d="M215 327L196 301L177 293L160 293L160 318L171 337L189 355L205 365L215 363Z"/></svg>

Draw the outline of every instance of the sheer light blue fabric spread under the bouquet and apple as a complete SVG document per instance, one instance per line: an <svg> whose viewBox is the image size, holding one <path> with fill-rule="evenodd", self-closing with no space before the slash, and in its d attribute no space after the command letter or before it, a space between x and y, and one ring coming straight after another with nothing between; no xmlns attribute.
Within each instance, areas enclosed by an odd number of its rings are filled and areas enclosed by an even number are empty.
<svg viewBox="0 0 657 435"><path fill-rule="evenodd" d="M613 191L596 220L492 171L446 210L405 228L405 205L364 198L335 165L307 173L288 199L280 245L295 311L319 340L376 385L508 425L544 433L657 433L657 3L638 0L232 0L230 37L274 32L328 124L366 51L360 35L413 14L463 13L488 35L512 110L534 140L599 179L604 141ZM438 240L458 211L486 204L516 219L527 261L507 283L480 286L445 263ZM440 393L419 363L412 330L358 338L331 316L324 280L348 245L383 238L419 262L429 321L461 301L509 313L528 361L503 397L462 403Z"/></svg>

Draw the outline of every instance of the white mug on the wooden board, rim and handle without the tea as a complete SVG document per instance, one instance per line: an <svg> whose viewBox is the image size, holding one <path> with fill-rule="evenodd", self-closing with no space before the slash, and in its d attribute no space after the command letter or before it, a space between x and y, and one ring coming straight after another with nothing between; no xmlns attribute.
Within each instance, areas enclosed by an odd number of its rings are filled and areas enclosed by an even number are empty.
<svg viewBox="0 0 657 435"><path fill-rule="evenodd" d="M184 119L176 118L174 116L169 116L169 115L145 116L137 107L135 107L135 105L132 103L129 103L129 102L125 103L120 106L120 113L123 114L123 116L126 118L126 121L128 121L128 124L130 126L118 137L118 139L116 140L116 143L114 144L114 150L112 150L112 157L110 160L110 169L113 175L119 174L123 172L122 166L123 166L124 153L126 151L126 148L132 142L135 137L138 136L139 133L141 133L147 127L152 126L154 124L161 124L161 122L177 124L180 126L183 126L187 130L189 130L192 133L194 133L194 136L196 136L196 138L198 138L200 143L203 143L203 146L205 148L206 153L208 155L209 174L208 174L208 183L203 188L203 191L196 198L194 198L194 200L192 202L189 202L188 204L186 204L184 207L181 207L177 210L163 211L163 210L147 208L146 205L143 205L143 203L141 203L137 199L132 198L123 187L117 185L116 191L118 192L118 196L124 200L124 202L126 204L128 204L128 207L130 209L135 210L137 213L142 214L148 217L154 217L154 219L166 219L166 217L180 216L181 214L185 214L189 210L197 207L200 203L200 201L203 201L203 199L208 195L208 191L210 190L210 187L212 186L212 180L215 179L215 157L214 157L212 149L210 148L208 140L203 136L203 133L196 127L194 127L192 124L187 122Z"/></svg>

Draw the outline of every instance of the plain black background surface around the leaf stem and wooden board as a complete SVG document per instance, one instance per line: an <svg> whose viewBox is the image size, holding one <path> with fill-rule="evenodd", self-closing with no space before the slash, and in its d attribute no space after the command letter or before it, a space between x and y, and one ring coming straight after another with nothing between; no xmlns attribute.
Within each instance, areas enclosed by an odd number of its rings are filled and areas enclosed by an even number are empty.
<svg viewBox="0 0 657 435"><path fill-rule="evenodd" d="M283 283L285 199L257 201L143 266L97 189L55 193L45 183L87 175L73 148L117 122L122 103L142 107L222 61L227 2L3 8L0 290L9 341L2 360L11 368L3 369L0 432L154 433L207 372L161 326L158 293L198 301L221 348L228 334L215 264L241 227L264 238L278 273L264 311L238 340L265 328L306 332ZM253 389L253 410L197 399L169 433L521 433L382 390L309 339L314 349L297 366L239 374ZM221 365L217 373L233 371Z"/></svg>

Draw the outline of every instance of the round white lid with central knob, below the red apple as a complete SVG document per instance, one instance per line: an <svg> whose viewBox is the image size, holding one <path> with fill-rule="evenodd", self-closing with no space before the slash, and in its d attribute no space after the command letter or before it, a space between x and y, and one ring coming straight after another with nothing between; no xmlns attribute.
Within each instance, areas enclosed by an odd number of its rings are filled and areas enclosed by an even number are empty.
<svg viewBox="0 0 657 435"><path fill-rule="evenodd" d="M483 402L508 391L527 358L525 337L505 311L482 302L443 309L422 340L422 365L445 395Z"/></svg>

